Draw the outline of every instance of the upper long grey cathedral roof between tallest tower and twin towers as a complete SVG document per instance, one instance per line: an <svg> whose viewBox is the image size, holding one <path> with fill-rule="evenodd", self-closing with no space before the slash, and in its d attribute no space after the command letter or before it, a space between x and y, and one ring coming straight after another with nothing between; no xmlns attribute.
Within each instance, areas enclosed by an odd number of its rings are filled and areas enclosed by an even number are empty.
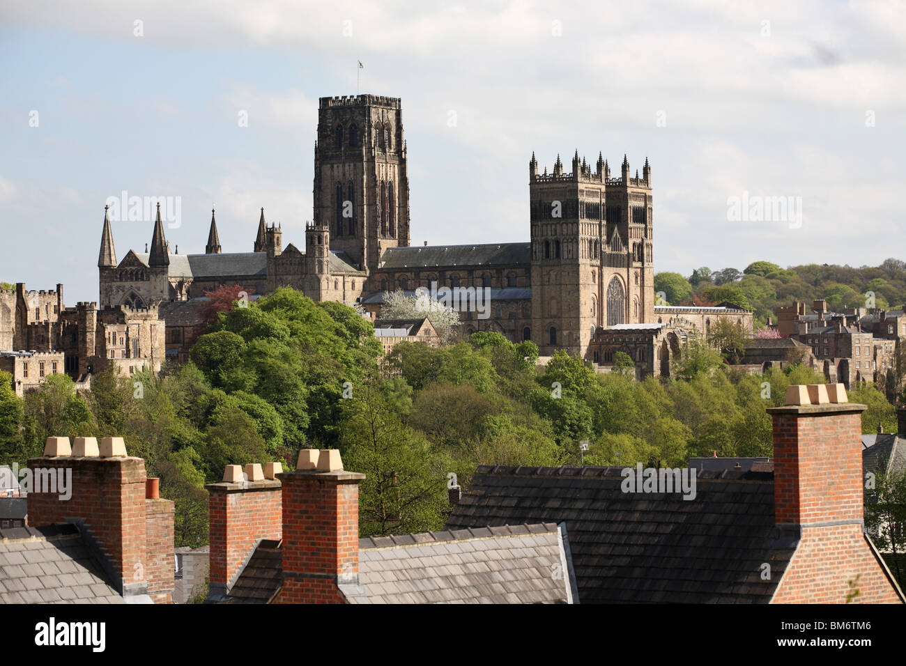
<svg viewBox="0 0 906 666"><path fill-rule="evenodd" d="M529 265L531 243L487 243L465 246L388 247L381 268L461 268L474 265Z"/></svg>

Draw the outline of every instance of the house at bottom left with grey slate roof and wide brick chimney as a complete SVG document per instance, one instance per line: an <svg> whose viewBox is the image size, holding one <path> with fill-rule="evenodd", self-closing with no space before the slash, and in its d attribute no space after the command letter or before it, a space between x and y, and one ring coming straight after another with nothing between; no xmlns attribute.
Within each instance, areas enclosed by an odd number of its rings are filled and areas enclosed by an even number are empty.
<svg viewBox="0 0 906 666"><path fill-rule="evenodd" d="M122 438L51 437L28 468L30 526L0 529L0 603L172 603L173 502Z"/></svg>

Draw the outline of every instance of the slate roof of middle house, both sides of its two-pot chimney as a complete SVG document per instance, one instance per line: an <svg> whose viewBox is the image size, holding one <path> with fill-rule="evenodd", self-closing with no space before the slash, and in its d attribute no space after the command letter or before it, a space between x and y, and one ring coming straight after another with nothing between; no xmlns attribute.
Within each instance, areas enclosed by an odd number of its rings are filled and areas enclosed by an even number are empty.
<svg viewBox="0 0 906 666"><path fill-rule="evenodd" d="M283 579L281 541L255 547L226 603L268 603ZM569 540L554 523L359 540L350 603L578 603Z"/></svg>

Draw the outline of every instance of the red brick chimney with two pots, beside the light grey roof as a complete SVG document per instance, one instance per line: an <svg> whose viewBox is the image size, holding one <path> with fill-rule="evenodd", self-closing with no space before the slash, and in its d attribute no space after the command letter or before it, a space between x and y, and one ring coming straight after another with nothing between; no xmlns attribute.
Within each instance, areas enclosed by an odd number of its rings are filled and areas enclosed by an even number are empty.
<svg viewBox="0 0 906 666"><path fill-rule="evenodd" d="M303 449L283 482L283 590L278 603L344 603L359 582L359 483L340 451Z"/></svg>

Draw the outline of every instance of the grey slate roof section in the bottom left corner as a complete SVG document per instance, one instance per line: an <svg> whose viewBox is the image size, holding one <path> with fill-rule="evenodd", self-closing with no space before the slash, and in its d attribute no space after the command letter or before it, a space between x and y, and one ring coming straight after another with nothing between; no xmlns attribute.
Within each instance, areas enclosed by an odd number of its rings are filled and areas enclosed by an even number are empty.
<svg viewBox="0 0 906 666"><path fill-rule="evenodd" d="M0 603L124 603L76 526L0 530Z"/></svg>

